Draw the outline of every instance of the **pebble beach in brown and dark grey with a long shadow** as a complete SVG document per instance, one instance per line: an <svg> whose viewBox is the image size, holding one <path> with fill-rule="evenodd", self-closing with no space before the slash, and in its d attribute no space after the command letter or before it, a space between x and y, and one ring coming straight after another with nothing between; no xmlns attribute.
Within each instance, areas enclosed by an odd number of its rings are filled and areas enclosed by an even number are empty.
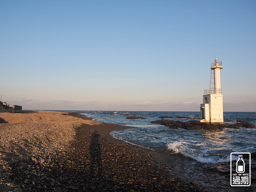
<svg viewBox="0 0 256 192"><path fill-rule="evenodd" d="M246 188L231 187L228 182L207 186L189 173L203 173L203 168L207 167L211 171L216 166L196 163L179 154L142 148L110 135L111 131L130 128L127 126L91 121L78 113L21 114L25 122L0 124L0 190L254 190L253 182L253 186ZM3 116L0 114L5 119ZM196 170L196 165L204 166ZM226 177L221 175L221 178Z"/></svg>

